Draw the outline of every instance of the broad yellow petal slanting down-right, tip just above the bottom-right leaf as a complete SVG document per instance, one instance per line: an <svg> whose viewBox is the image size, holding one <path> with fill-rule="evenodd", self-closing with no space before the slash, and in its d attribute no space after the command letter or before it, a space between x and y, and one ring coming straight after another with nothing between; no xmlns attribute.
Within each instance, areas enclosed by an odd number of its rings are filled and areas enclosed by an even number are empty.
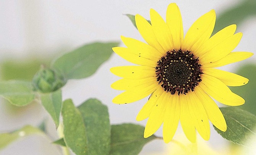
<svg viewBox="0 0 256 155"><path fill-rule="evenodd" d="M230 106L245 104L245 100L242 97L233 93L219 79L206 74L202 74L201 79L202 81L198 86L220 103Z"/></svg>

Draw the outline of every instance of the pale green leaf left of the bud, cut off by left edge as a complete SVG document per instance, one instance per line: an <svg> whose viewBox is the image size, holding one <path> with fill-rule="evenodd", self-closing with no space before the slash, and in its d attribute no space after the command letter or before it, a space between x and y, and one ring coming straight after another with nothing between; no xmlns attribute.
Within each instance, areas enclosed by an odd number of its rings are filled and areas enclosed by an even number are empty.
<svg viewBox="0 0 256 155"><path fill-rule="evenodd" d="M0 96L16 106L27 105L35 98L30 82L16 80L1 81Z"/></svg>

